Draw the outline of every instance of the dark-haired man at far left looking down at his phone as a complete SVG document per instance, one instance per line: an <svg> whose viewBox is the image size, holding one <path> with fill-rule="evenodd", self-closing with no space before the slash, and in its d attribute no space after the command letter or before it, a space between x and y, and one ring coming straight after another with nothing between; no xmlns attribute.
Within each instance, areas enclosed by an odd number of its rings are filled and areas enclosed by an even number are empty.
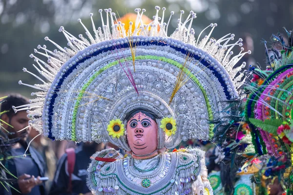
<svg viewBox="0 0 293 195"><path fill-rule="evenodd" d="M1 116L1 119L5 122L1 130L6 132L6 129L9 132L8 137L10 139L20 138L18 143L13 145L9 151L10 156L15 157L6 160L5 166L14 176L18 177L17 182L12 183L12 187L21 192L21 194L45 195L44 182L40 180L40 177L44 176L45 167L42 156L33 147L29 147L26 157L23 157L28 146L27 137L31 131L31 128L27 127L29 118L26 111L15 113L12 109L12 106L28 103L27 98L19 94L11 94L1 104L0 112L7 111ZM22 129L25 130L18 132ZM12 195L20 194L16 190L11 189Z"/></svg>

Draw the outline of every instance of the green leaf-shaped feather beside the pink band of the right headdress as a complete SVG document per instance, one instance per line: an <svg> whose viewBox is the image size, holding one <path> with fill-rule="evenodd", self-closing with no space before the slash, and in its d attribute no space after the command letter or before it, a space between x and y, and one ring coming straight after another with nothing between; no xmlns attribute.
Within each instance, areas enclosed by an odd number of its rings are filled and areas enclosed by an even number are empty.
<svg viewBox="0 0 293 195"><path fill-rule="evenodd" d="M265 121L250 118L249 121L256 127L276 135L278 127L283 123L280 119L266 119Z"/></svg>

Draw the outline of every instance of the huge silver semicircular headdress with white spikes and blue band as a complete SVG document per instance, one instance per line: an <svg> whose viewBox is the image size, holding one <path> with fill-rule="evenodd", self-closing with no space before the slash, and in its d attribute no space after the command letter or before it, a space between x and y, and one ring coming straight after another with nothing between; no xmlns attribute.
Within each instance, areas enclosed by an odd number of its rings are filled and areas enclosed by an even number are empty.
<svg viewBox="0 0 293 195"><path fill-rule="evenodd" d="M88 39L60 27L68 47L45 37L56 49L39 45L30 55L42 78L34 76L42 83L19 82L39 92L32 93L36 98L30 105L15 110L28 109L30 125L57 140L109 141L127 150L125 137L109 135L107 127L111 120L123 127L127 113L137 108L176 120L176 131L164 141L167 148L188 138L208 140L213 131L209 121L225 115L221 111L226 100L238 98L236 90L243 77L239 71L245 64L234 65L250 51L242 48L233 56L233 47L242 46L242 40L230 44L233 34L211 38L217 24L210 24L195 38L192 11L186 20L181 11L178 27L168 36L174 12L166 23L166 9L161 18L160 7L155 8L150 23L142 20L145 9L135 9L137 17L129 22L129 30L111 9L105 10L106 23L99 10L99 28L90 14L92 33L79 19Z"/></svg>

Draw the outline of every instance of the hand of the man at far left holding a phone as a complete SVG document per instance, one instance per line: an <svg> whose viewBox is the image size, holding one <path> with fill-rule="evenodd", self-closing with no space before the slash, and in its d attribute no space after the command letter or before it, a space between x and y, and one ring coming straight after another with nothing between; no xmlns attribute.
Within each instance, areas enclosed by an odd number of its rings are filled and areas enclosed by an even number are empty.
<svg viewBox="0 0 293 195"><path fill-rule="evenodd" d="M30 193L36 185L41 184L42 181L40 180L40 176L35 179L35 176L23 174L19 176L17 183L20 187L21 193L27 194Z"/></svg>

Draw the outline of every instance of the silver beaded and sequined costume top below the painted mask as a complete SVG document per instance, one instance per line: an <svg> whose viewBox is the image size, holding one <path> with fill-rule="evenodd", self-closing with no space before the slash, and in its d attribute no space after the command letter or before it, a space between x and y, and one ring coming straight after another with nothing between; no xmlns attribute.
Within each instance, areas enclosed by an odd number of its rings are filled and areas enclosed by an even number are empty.
<svg viewBox="0 0 293 195"><path fill-rule="evenodd" d="M204 158L204 152L197 151L160 154L157 167L147 172L137 170L131 157L110 163L93 159L88 168L88 186L96 194L189 194L192 192L192 183L202 179L201 167L204 165L201 159ZM114 150L106 153L102 151L93 157L117 155ZM205 188L209 189L207 186Z"/></svg>

